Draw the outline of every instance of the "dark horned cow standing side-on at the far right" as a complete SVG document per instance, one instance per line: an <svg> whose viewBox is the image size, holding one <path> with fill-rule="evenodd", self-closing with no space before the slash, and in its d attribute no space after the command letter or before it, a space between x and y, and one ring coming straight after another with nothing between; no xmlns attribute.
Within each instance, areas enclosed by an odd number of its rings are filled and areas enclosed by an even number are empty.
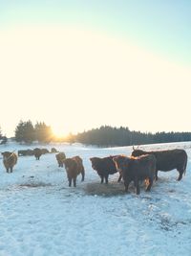
<svg viewBox="0 0 191 256"><path fill-rule="evenodd" d="M133 156L142 154L154 154L157 159L156 179L158 179L158 171L168 172L177 169L180 173L178 180L180 181L182 175L185 175L187 165L187 153L184 150L168 150L168 151L141 151L134 150Z"/></svg>

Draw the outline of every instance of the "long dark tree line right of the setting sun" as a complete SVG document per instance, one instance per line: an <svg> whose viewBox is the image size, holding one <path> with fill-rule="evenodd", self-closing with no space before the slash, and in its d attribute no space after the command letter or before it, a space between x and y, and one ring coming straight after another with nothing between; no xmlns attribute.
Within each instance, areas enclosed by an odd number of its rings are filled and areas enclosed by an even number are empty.
<svg viewBox="0 0 191 256"><path fill-rule="evenodd" d="M99 147L131 146L191 141L191 132L140 132L129 128L102 126L75 135L75 141Z"/></svg>

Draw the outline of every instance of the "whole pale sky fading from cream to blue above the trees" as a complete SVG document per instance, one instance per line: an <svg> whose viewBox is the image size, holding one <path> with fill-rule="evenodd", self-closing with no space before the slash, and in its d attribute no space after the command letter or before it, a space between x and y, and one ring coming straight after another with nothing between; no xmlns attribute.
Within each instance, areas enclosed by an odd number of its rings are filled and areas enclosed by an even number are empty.
<svg viewBox="0 0 191 256"><path fill-rule="evenodd" d="M0 126L191 131L190 0L0 0Z"/></svg>

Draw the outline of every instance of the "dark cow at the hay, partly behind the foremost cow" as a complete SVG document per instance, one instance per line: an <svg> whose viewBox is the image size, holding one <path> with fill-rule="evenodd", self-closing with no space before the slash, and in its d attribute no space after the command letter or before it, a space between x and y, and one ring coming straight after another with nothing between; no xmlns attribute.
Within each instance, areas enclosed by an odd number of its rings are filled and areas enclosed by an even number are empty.
<svg viewBox="0 0 191 256"><path fill-rule="evenodd" d="M117 155L110 155L107 157L99 158L99 157L91 157L90 161L92 162L92 168L96 170L97 174L101 178L101 183L108 183L108 176L114 175L117 173L116 165L113 161L113 158ZM121 180L121 175L118 177L118 182Z"/></svg>

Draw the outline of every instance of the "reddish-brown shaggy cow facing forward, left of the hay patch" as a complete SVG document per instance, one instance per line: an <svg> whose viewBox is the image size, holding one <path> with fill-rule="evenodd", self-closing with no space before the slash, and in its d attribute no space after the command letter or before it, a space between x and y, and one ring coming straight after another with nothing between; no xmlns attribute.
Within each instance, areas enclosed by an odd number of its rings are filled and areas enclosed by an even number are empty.
<svg viewBox="0 0 191 256"><path fill-rule="evenodd" d="M65 166L68 180L69 180L69 187L71 187L72 185L72 180L73 180L74 187L76 187L76 177L79 174L82 175L81 181L84 181L85 171L83 167L83 162L78 155L72 158L66 158L64 160L64 166Z"/></svg>

